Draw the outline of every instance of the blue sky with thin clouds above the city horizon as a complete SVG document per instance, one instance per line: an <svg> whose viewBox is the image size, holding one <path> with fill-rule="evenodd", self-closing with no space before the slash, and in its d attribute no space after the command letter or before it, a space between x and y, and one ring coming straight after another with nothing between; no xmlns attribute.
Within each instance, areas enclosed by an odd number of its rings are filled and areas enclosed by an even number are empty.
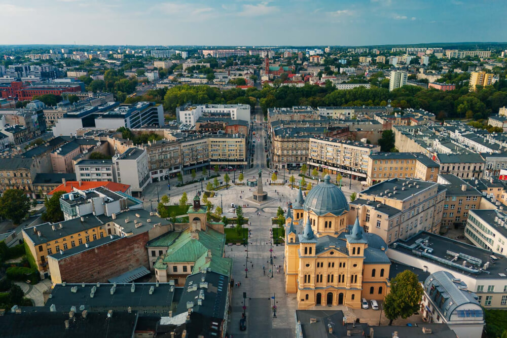
<svg viewBox="0 0 507 338"><path fill-rule="evenodd" d="M0 0L0 45L506 42L507 0Z"/></svg>

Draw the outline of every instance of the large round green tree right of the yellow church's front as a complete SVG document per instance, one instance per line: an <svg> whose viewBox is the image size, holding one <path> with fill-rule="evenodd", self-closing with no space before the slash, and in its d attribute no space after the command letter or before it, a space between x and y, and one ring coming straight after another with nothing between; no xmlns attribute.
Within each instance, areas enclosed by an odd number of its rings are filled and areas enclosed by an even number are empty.
<svg viewBox="0 0 507 338"><path fill-rule="evenodd" d="M398 317L406 319L419 310L423 289L417 275L405 270L391 280L390 292L385 296L384 311L389 325Z"/></svg>

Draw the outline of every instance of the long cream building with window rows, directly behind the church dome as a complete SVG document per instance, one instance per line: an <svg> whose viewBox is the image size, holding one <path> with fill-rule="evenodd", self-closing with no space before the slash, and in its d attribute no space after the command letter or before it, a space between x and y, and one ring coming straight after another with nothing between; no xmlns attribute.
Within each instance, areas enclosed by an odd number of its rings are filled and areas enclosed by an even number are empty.
<svg viewBox="0 0 507 338"><path fill-rule="evenodd" d="M308 140L308 166L330 174L347 174L366 179L370 155L380 152L380 146L328 137Z"/></svg>

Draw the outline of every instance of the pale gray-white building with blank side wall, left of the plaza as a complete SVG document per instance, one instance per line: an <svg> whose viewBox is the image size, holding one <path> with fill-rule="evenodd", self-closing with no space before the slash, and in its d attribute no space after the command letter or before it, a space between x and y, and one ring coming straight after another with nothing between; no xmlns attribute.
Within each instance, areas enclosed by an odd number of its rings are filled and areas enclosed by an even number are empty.
<svg viewBox="0 0 507 338"><path fill-rule="evenodd" d="M113 166L118 183L129 184L132 193L140 194L151 183L146 149L132 147L115 155Z"/></svg>

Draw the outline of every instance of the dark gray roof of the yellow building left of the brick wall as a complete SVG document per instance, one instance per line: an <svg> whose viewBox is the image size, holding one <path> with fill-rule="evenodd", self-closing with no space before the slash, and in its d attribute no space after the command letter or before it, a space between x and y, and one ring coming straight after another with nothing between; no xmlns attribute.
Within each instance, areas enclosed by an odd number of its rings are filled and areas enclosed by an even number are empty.
<svg viewBox="0 0 507 338"><path fill-rule="evenodd" d="M102 222L96 216L87 215L82 217L83 220L78 217L54 223L55 230L53 230L52 224L50 222L47 222L44 224L39 224L35 227L23 229L23 232L32 240L35 245L39 245L102 225ZM60 224L62 225L61 228ZM39 236L36 232L41 232L41 236Z"/></svg>

